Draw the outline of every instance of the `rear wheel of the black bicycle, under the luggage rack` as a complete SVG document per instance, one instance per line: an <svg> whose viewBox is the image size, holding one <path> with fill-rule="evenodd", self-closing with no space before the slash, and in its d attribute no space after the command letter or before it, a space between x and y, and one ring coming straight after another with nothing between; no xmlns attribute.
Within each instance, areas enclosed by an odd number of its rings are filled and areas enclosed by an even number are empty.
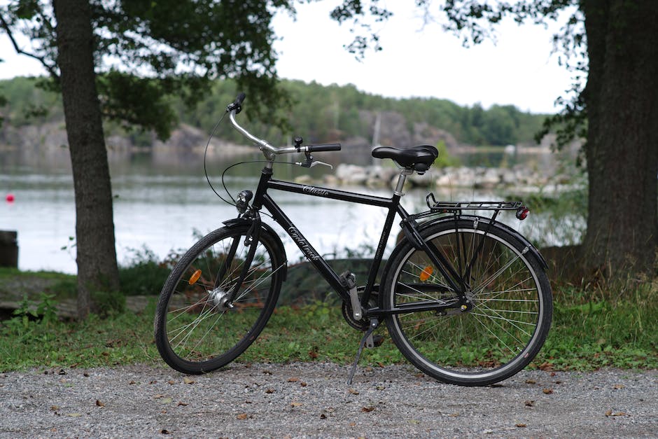
<svg viewBox="0 0 658 439"><path fill-rule="evenodd" d="M467 293L472 309L386 317L391 339L416 368L463 386L493 384L525 368L540 351L552 319L551 288L538 253L505 227L474 220L440 221L421 231L461 276L474 261ZM390 267L380 297L383 309L458 300L426 253L406 240Z"/></svg>

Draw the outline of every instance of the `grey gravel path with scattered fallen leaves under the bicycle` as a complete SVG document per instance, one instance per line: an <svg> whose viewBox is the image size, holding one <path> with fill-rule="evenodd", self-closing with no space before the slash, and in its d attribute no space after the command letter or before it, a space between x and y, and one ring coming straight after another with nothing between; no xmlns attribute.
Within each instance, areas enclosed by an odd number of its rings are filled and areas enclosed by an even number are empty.
<svg viewBox="0 0 658 439"><path fill-rule="evenodd" d="M658 371L523 371L489 387L405 365L137 365L0 374L0 437L657 437Z"/></svg>

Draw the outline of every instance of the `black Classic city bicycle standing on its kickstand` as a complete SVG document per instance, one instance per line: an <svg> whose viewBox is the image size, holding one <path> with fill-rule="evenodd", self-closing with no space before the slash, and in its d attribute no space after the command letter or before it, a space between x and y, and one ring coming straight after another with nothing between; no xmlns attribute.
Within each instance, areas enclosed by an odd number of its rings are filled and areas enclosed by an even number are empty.
<svg viewBox="0 0 658 439"><path fill-rule="evenodd" d="M277 155L303 153L305 160L297 165L327 165L311 153L339 151L341 145L302 146L297 137L294 146L272 146L237 123L244 97L241 93L225 114L260 148L265 166L255 193L238 194L237 218L194 244L165 281L154 327L158 351L168 365L186 374L216 370L242 354L265 327L286 279L287 257L279 235L261 221L263 209L342 299L347 323L364 333L348 383L383 321L407 360L442 382L493 384L533 360L552 319L547 265L528 239L496 221L501 211L526 218L522 202L437 202L429 193L428 210L408 214L400 205L402 188L407 176L423 174L433 164L433 146L373 149L374 158L392 159L400 167L391 197L276 180ZM388 209L365 285L358 286L349 271L332 270L274 202L271 190ZM403 236L380 270L396 216Z"/></svg>

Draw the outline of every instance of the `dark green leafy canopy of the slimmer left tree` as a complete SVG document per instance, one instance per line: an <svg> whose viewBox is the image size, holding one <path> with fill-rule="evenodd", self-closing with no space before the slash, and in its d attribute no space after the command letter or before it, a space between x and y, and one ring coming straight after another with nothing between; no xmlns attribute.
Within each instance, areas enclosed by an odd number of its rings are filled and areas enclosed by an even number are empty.
<svg viewBox="0 0 658 439"><path fill-rule="evenodd" d="M293 13L288 0L91 0L102 111L165 139L176 125L171 95L193 104L216 78L235 78L260 112L286 102L275 87L276 53L271 21L276 10ZM29 36L58 90L56 22L50 2L15 0L0 8L0 26L13 39Z"/></svg>

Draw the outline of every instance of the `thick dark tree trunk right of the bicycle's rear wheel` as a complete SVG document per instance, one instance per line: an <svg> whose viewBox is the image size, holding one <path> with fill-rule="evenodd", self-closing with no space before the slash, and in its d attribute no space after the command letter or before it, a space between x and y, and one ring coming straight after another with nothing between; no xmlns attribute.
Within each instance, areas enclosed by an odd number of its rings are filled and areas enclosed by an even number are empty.
<svg viewBox="0 0 658 439"><path fill-rule="evenodd" d="M587 267L654 268L658 244L658 2L582 0L589 75Z"/></svg>

